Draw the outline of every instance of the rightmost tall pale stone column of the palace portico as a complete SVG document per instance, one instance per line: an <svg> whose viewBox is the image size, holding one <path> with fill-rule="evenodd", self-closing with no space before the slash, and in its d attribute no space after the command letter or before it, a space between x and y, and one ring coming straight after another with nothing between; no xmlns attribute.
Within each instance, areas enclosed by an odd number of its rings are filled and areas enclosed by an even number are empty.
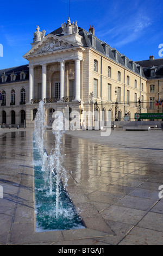
<svg viewBox="0 0 163 256"><path fill-rule="evenodd" d="M74 100L79 100L80 101L80 59L76 60L76 65L75 65L75 88L74 88Z"/></svg>

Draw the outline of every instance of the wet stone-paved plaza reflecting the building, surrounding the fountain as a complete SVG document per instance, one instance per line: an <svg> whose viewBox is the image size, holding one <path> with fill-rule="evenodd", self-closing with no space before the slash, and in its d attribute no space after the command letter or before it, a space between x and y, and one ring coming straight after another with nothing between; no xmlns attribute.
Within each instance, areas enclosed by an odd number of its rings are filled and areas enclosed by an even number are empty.
<svg viewBox="0 0 163 256"><path fill-rule="evenodd" d="M66 132L67 191L86 228L37 233L32 132L0 133L0 245L163 244L162 130ZM52 130L45 139L49 154Z"/></svg>

